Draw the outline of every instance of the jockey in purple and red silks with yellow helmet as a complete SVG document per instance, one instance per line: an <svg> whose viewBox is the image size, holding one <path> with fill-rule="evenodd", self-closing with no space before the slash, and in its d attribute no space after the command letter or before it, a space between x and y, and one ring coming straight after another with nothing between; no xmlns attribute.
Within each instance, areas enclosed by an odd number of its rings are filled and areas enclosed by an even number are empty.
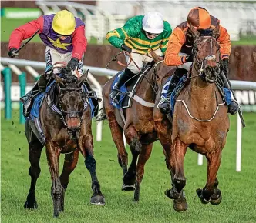
<svg viewBox="0 0 256 223"><path fill-rule="evenodd" d="M85 24L67 10L43 15L16 28L10 36L8 55L14 58L21 42L31 37L38 29L39 36L46 45L46 68L45 74L40 76L32 90L21 98L25 117L29 116L35 95L45 92L46 84L52 78L51 68L55 62L67 62L67 67L72 70L77 68L79 74L83 75L83 54L87 47Z"/></svg>

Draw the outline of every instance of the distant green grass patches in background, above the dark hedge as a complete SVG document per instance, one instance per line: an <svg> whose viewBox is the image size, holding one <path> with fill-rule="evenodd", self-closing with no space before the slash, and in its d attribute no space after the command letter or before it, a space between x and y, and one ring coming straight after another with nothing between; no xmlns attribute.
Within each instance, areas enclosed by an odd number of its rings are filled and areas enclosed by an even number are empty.
<svg viewBox="0 0 256 223"><path fill-rule="evenodd" d="M26 22L29 22L31 19L11 19L11 18L1 18L1 41L8 42L9 37L12 31L19 27L20 25L24 25ZM31 42L42 42L39 38L39 35L35 35L35 38L32 38ZM91 38L89 44L96 44L96 38ZM109 44L109 42L104 39L103 44ZM234 45L256 45L256 37L241 37L239 41L233 41Z"/></svg>

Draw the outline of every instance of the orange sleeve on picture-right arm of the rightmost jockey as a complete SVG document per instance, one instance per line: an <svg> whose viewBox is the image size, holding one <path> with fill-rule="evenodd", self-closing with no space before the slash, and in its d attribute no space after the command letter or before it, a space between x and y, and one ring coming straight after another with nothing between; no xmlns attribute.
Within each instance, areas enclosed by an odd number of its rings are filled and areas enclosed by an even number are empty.
<svg viewBox="0 0 256 223"><path fill-rule="evenodd" d="M221 59L229 58L231 55L231 38L227 29L220 25L220 37L217 39L221 45Z"/></svg>

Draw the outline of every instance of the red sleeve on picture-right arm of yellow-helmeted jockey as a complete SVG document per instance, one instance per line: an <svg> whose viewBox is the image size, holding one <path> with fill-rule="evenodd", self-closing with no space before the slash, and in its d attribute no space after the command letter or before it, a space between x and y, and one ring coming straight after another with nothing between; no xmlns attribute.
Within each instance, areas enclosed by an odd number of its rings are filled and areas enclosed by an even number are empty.
<svg viewBox="0 0 256 223"><path fill-rule="evenodd" d="M73 32L72 45L73 45L72 57L78 58L79 60L81 60L83 57L83 53L86 52L86 48L87 48L87 39L85 35L84 25L79 26L78 28L76 28L75 32Z"/></svg>

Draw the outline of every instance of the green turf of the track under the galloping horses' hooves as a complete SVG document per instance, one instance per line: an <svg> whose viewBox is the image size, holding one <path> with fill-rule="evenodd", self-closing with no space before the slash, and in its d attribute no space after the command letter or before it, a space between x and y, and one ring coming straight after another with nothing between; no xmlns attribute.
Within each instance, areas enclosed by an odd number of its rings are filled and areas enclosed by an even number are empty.
<svg viewBox="0 0 256 223"><path fill-rule="evenodd" d="M2 112L3 113L3 112ZM103 141L95 142L97 175L106 198L104 207L89 205L91 181L83 157L72 172L66 191L65 212L59 219L52 218L51 180L45 159L41 158L41 175L36 188L39 208L24 210L29 191L28 144L24 125L19 124L19 113L6 121L2 114L2 222L255 222L255 159L256 114L244 114L247 127L243 129L242 169L235 171L236 117L231 118L231 130L224 148L218 172L223 200L221 205L203 205L195 190L206 182L206 162L197 165L197 154L187 151L185 158L185 188L189 208L184 213L173 211L173 201L163 195L170 188L170 175L164 163L159 142L145 168L140 202L133 203L133 192L121 191L122 170L116 158L116 147L107 122L103 125ZM95 135L95 125L93 126ZM127 149L130 151L129 149ZM130 156L131 157L131 156ZM61 156L61 162L63 155Z"/></svg>

